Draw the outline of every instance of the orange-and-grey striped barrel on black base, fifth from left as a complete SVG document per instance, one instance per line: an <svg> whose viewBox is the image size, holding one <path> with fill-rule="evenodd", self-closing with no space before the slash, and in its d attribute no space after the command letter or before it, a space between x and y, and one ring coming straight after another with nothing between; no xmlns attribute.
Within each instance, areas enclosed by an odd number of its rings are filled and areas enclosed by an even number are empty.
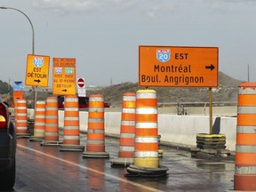
<svg viewBox="0 0 256 192"><path fill-rule="evenodd" d="M101 94L89 97L87 144L84 157L109 157L105 152L104 98Z"/></svg>

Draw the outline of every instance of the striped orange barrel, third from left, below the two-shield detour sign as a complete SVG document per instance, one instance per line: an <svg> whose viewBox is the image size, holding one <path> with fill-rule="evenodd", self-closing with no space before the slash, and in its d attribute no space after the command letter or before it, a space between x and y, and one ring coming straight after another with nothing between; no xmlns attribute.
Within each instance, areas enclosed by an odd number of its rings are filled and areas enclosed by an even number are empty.
<svg viewBox="0 0 256 192"><path fill-rule="evenodd" d="M47 97L45 107L45 132L41 145L59 144L59 116L57 97Z"/></svg>

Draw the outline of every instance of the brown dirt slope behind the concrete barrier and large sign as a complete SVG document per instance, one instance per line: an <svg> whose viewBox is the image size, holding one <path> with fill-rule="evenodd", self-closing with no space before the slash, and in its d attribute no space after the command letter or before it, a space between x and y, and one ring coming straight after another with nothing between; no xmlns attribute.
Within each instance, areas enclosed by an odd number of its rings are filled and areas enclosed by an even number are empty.
<svg viewBox="0 0 256 192"><path fill-rule="evenodd" d="M219 72L219 86L212 89L212 102L236 101L237 85L240 83L241 81ZM138 83L126 82L102 87L95 91L87 91L87 95L100 93L112 107L121 107L124 92L137 92L141 89L144 89L144 87L140 87ZM152 87L152 89L157 92L158 104L209 101L209 89L207 88Z"/></svg>

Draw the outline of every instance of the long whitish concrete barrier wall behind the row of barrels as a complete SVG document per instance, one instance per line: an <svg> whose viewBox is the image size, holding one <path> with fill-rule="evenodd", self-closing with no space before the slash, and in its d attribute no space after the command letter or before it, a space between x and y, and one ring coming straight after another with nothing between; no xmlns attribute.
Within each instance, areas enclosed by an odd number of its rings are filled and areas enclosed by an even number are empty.
<svg viewBox="0 0 256 192"><path fill-rule="evenodd" d="M28 109L28 116L33 118L33 110ZM64 124L64 111L59 111L59 126ZM80 111L80 130L87 131L88 112ZM209 133L209 116L177 116L158 114L158 134L161 141L177 146L196 146L196 133ZM236 117L213 117L213 133L226 135L226 146L236 150ZM120 133L121 112L105 112L105 132L117 135Z"/></svg>

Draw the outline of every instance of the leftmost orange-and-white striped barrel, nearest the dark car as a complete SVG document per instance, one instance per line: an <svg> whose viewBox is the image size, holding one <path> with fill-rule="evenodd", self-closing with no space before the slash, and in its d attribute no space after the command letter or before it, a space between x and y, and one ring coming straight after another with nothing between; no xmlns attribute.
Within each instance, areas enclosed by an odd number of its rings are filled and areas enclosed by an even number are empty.
<svg viewBox="0 0 256 192"><path fill-rule="evenodd" d="M28 134L28 114L27 100L15 100L15 124L17 137L29 136Z"/></svg>

